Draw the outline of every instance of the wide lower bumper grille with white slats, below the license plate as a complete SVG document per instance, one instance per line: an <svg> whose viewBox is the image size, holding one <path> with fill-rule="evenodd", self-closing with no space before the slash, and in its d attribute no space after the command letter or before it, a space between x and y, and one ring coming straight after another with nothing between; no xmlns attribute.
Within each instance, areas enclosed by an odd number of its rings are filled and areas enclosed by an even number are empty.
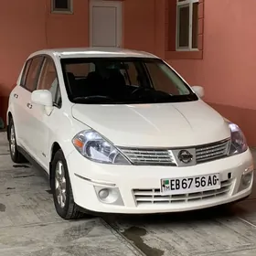
<svg viewBox="0 0 256 256"><path fill-rule="evenodd" d="M159 188L155 189L133 189L133 197L136 205L152 205L152 204L176 204L200 201L214 197L225 197L229 194L232 186L232 180L221 182L219 189L208 190L204 192L162 196Z"/></svg>

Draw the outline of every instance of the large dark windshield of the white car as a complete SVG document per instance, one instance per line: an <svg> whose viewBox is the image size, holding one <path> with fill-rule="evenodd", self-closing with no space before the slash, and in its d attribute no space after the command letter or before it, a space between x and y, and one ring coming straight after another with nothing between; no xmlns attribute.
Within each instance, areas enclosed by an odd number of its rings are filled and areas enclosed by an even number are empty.
<svg viewBox="0 0 256 256"><path fill-rule="evenodd" d="M140 104L197 101L186 82L161 59L61 59L69 101Z"/></svg>

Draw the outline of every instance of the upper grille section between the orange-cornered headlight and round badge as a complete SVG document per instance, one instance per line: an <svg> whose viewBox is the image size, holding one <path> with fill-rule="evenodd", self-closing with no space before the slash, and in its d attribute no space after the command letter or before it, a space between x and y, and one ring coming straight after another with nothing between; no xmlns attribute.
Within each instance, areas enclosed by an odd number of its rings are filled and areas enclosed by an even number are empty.
<svg viewBox="0 0 256 256"><path fill-rule="evenodd" d="M123 154L134 165L176 165L168 150L122 148Z"/></svg>

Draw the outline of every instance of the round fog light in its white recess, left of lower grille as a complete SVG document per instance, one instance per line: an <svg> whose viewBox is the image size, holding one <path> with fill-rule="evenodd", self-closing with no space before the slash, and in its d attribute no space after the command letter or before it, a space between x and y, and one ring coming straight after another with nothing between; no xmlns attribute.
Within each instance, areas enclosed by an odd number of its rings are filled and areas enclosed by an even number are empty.
<svg viewBox="0 0 256 256"><path fill-rule="evenodd" d="M121 197L118 187L98 187L94 186L96 195L101 203L123 206L123 198Z"/></svg>

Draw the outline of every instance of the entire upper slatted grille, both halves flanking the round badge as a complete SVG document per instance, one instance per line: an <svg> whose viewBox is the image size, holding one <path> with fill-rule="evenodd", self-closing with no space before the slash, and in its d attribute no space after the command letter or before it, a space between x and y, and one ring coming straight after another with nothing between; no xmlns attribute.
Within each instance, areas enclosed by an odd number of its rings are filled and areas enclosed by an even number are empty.
<svg viewBox="0 0 256 256"><path fill-rule="evenodd" d="M193 147L189 147L190 149ZM185 148L181 148L186 149ZM133 165L173 165L177 166L178 148L128 148L120 147L119 150ZM226 157L229 151L229 140L214 144L203 144L194 147L196 151L196 163L205 163L222 157Z"/></svg>

